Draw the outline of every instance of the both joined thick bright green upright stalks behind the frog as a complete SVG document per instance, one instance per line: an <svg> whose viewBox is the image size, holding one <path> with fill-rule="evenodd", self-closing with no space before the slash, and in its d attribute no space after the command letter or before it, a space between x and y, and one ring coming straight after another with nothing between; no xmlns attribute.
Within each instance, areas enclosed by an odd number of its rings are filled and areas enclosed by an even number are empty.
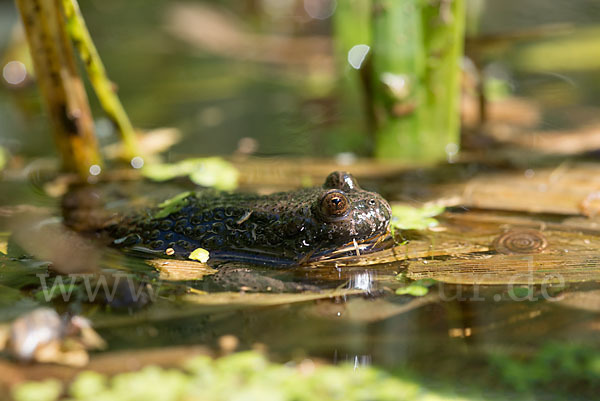
<svg viewBox="0 0 600 401"><path fill-rule="evenodd" d="M457 151L464 12L464 0L375 1L377 157L427 162Z"/></svg>

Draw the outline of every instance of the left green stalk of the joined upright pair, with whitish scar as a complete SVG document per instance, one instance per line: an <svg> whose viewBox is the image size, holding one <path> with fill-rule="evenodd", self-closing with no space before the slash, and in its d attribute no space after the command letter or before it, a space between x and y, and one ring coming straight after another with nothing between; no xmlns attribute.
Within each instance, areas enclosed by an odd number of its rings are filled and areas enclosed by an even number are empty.
<svg viewBox="0 0 600 401"><path fill-rule="evenodd" d="M376 0L373 87L378 158L422 158L426 49L420 0Z"/></svg>

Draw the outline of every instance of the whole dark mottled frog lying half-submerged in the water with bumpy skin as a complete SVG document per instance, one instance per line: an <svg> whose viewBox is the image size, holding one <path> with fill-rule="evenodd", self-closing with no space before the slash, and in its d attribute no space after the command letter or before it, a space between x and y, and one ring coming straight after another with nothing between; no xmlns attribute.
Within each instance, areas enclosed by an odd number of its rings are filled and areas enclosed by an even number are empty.
<svg viewBox="0 0 600 401"><path fill-rule="evenodd" d="M340 202L342 210L332 215ZM367 249L387 233L391 217L380 195L361 189L344 172L331 173L321 187L266 196L202 191L183 198L179 210L153 218L159 211L114 225L115 244L163 255L172 248L184 258L204 248L212 261L293 265L353 241Z"/></svg>

